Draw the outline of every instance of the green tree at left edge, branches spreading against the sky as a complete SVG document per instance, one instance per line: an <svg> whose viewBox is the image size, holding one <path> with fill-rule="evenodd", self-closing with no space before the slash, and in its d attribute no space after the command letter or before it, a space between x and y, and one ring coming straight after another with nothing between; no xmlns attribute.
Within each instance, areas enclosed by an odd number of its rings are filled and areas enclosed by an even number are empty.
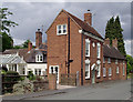
<svg viewBox="0 0 133 102"><path fill-rule="evenodd" d="M2 51L6 49L11 49L13 47L13 40L10 35L10 27L16 27L18 23L8 20L8 17L11 14L13 13L8 11L8 8L0 8L0 34L2 37L2 39L0 39L0 42L2 43Z"/></svg>

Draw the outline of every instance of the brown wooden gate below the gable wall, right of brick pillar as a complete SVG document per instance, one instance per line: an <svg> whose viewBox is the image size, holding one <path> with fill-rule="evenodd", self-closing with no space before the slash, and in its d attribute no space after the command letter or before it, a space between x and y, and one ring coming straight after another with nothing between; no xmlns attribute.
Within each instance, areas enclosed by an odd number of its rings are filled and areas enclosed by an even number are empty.
<svg viewBox="0 0 133 102"><path fill-rule="evenodd" d="M61 74L62 85L76 85L76 74Z"/></svg>

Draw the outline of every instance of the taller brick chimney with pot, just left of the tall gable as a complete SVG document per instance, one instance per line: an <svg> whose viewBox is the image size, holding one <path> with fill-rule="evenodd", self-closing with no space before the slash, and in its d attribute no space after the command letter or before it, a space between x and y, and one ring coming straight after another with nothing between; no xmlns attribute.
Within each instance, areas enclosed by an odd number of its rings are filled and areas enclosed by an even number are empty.
<svg viewBox="0 0 133 102"><path fill-rule="evenodd" d="M35 32L35 48L39 48L42 44L42 32L40 29Z"/></svg>

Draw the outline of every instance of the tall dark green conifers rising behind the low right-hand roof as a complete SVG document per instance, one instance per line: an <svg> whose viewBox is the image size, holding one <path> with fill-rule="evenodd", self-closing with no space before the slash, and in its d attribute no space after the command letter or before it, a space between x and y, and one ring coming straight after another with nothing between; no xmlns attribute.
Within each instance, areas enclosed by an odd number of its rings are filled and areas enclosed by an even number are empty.
<svg viewBox="0 0 133 102"><path fill-rule="evenodd" d="M110 39L110 44L112 45L112 40L117 39L117 49L123 54L126 55L125 48L124 48L124 40L123 40L123 29L121 28L121 22L119 16L115 18L112 17L105 28L105 39Z"/></svg>

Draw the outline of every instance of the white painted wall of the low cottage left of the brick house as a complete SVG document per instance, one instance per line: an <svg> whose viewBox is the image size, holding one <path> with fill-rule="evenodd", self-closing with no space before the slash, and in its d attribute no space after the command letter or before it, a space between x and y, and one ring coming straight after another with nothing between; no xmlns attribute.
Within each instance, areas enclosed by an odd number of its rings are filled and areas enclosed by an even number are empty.
<svg viewBox="0 0 133 102"><path fill-rule="evenodd" d="M43 72L47 71L47 63L27 63L27 72L32 70L33 74L35 74L35 69L41 69L41 75L44 75Z"/></svg>

